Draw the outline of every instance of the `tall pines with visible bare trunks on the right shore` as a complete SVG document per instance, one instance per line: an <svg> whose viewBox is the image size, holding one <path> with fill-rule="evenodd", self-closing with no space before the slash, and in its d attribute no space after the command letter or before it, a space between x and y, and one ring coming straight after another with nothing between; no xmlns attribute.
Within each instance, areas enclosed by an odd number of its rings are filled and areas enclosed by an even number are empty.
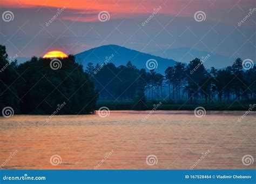
<svg viewBox="0 0 256 184"><path fill-rule="evenodd" d="M180 99L180 87L191 103L205 99L205 103L221 103L230 100L255 99L256 70L244 70L242 60L237 58L232 66L217 70L214 67L207 71L200 59L192 60L186 67L177 63L165 71L167 84L177 89ZM173 94L174 95L174 94ZM169 96L170 98L170 96Z"/></svg>

